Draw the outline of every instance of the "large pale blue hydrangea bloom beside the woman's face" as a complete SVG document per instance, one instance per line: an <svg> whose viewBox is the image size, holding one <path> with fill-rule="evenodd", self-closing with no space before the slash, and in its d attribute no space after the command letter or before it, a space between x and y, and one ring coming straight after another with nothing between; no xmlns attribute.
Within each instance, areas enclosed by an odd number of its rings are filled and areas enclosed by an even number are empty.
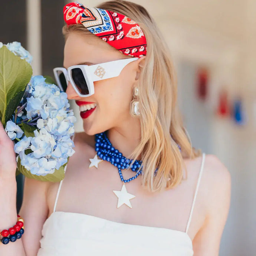
<svg viewBox="0 0 256 256"><path fill-rule="evenodd" d="M27 119L27 124L37 129L34 137L24 136L17 142L14 151L32 174L54 173L75 152L70 136L75 132L76 118L69 110L67 94L60 92L58 86L46 83L43 76L32 76L26 94L26 107L20 119ZM28 149L30 152L25 154Z"/></svg>

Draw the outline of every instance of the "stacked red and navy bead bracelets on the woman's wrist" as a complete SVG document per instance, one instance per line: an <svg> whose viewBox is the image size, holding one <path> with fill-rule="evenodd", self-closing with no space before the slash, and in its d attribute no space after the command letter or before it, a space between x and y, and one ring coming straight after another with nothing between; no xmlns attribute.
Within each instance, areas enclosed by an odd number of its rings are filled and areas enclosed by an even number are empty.
<svg viewBox="0 0 256 256"><path fill-rule="evenodd" d="M16 239L20 238L24 233L24 220L17 214L17 222L10 229L0 230L0 236L3 236L3 239L0 239L0 243L7 244L9 240L15 242ZM10 237L8 237L10 235ZM16 237L16 238L15 238ZM8 240L8 241L7 241Z"/></svg>

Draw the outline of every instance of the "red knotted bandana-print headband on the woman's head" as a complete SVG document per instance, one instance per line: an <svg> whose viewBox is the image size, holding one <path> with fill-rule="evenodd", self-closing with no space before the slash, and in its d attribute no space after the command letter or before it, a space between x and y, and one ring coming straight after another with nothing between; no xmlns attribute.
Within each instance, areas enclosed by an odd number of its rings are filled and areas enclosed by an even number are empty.
<svg viewBox="0 0 256 256"><path fill-rule="evenodd" d="M147 53L147 41L140 26L125 15L88 8L78 2L66 4L63 15L67 25L83 24L94 35L126 55L141 57Z"/></svg>

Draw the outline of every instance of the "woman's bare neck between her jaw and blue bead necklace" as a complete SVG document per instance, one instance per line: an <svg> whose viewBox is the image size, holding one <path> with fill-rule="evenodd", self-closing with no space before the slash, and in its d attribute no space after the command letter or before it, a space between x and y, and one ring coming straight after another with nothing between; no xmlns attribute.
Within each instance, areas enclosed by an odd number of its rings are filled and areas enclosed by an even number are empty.
<svg viewBox="0 0 256 256"><path fill-rule="evenodd" d="M128 158L141 141L140 120L133 118L123 122L121 126L109 129L107 135L113 147Z"/></svg>

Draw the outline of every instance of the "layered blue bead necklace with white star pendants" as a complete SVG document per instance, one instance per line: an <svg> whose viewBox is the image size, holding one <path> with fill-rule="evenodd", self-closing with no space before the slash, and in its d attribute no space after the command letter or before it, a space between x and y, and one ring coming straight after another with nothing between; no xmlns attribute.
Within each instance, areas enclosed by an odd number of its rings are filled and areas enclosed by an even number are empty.
<svg viewBox="0 0 256 256"><path fill-rule="evenodd" d="M138 175L142 173L142 168L140 169L140 171L138 171L142 165L142 161L135 160L134 164L131 165L133 160L124 157L121 152L119 152L117 149L115 149L112 146L111 142L106 136L106 132L102 132L95 135L95 151L96 151L96 155L94 158L90 158L91 164L89 165L89 167L94 166L98 168L98 164L102 160L108 161L109 163L116 166L118 168L120 179L123 183L121 191L113 190L115 195L118 197L117 208L119 208L123 204L126 204L127 206L132 208L130 199L134 198L135 196L127 192L125 183L128 183L134 180L135 178L138 177ZM98 159L97 155L101 159ZM131 168L131 170L136 172L136 174L133 177L125 180L122 174L122 170L128 169L128 168Z"/></svg>

